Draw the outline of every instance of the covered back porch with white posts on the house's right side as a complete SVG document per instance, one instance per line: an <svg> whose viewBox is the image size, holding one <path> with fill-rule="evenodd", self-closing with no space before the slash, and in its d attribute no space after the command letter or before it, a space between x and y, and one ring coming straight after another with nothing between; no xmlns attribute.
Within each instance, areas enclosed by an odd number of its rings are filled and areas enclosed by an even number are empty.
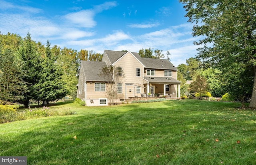
<svg viewBox="0 0 256 165"><path fill-rule="evenodd" d="M174 78L144 77L144 93L155 96L180 97L180 81Z"/></svg>

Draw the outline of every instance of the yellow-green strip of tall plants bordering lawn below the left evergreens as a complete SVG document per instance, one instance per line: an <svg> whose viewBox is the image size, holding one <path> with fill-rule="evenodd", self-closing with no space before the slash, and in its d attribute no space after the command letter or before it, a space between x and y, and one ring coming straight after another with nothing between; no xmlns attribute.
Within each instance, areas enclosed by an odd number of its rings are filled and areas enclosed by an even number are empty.
<svg viewBox="0 0 256 165"><path fill-rule="evenodd" d="M22 112L17 111L18 107L11 107L8 105L0 105L0 123L9 123L12 121L19 121L31 118L47 117L47 116L63 116L72 115L76 112L70 109L50 109L49 107L25 109Z"/></svg>

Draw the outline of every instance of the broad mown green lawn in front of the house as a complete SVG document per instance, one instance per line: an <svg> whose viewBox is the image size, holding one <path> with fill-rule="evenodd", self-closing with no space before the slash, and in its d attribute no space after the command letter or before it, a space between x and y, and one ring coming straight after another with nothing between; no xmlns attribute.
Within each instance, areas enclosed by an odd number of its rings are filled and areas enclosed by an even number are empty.
<svg viewBox="0 0 256 165"><path fill-rule="evenodd" d="M0 124L0 155L28 165L218 165L256 162L256 111L239 103L167 100ZM52 107L51 107L52 108Z"/></svg>

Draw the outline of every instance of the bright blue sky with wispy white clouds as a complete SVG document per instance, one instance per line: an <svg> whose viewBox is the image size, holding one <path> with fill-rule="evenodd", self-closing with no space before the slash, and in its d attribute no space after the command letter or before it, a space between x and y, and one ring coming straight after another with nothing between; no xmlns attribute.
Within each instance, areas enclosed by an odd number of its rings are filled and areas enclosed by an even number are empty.
<svg viewBox="0 0 256 165"><path fill-rule="evenodd" d="M178 0L0 0L0 32L77 51L169 50L178 66L198 48L185 14Z"/></svg>

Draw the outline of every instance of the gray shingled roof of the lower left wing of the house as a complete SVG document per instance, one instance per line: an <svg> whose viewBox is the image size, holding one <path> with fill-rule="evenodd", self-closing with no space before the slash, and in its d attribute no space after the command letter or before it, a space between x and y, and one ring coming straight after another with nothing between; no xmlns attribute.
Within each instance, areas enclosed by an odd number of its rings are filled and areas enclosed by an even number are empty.
<svg viewBox="0 0 256 165"><path fill-rule="evenodd" d="M107 67L106 62L81 61L81 66L83 66L86 81L104 81L98 74L102 68Z"/></svg>

